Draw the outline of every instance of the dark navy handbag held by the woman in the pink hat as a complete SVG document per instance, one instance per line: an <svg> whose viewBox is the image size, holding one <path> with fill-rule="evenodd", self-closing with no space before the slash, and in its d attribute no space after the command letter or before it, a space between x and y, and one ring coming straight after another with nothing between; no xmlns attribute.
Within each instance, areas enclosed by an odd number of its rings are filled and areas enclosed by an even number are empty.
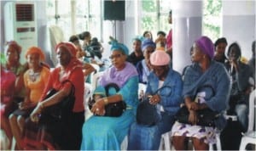
<svg viewBox="0 0 256 151"><path fill-rule="evenodd" d="M169 86L165 86L165 87L169 87ZM160 87L160 89L154 92L154 94L156 94L162 88L165 88L165 87ZM148 97L147 98L144 97L143 100L138 104L136 120L137 120L137 124L143 125L143 126L155 126L161 120L160 111L158 111L158 109L156 108L156 105L149 103Z"/></svg>

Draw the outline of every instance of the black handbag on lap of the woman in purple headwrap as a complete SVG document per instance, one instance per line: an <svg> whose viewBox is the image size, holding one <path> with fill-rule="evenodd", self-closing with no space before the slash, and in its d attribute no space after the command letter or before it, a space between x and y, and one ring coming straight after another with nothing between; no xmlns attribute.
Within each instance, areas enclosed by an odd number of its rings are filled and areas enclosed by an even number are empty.
<svg viewBox="0 0 256 151"><path fill-rule="evenodd" d="M205 85L203 87L198 88L198 90L201 90L202 88L210 88L212 91L212 96L215 95L214 89L212 86ZM197 91L198 92L198 91ZM195 100L195 98L193 99ZM212 109L200 109L196 110L196 115L198 118L198 121L196 122L197 126L212 126L214 127L214 120L218 118L220 115L218 112L212 111ZM175 115L175 119L184 124L191 124L189 122L189 109L186 107L185 104L182 104L182 107L177 111L177 114Z"/></svg>

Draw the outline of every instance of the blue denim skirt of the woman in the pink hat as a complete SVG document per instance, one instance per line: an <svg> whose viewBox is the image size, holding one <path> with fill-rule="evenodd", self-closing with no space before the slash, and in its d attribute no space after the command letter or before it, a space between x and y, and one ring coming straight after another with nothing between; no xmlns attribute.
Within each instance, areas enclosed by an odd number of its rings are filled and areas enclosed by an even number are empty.
<svg viewBox="0 0 256 151"><path fill-rule="evenodd" d="M158 150L161 135L171 131L174 123L173 115L161 112L162 119L155 126L142 126L136 122L131 125L127 150Z"/></svg>

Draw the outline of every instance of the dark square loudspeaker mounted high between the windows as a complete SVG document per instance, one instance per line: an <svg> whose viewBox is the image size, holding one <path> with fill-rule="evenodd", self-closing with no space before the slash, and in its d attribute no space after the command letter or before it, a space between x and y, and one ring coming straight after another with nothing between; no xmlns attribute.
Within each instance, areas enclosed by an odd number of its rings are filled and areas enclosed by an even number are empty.
<svg viewBox="0 0 256 151"><path fill-rule="evenodd" d="M105 0L104 20L125 20L125 0Z"/></svg>

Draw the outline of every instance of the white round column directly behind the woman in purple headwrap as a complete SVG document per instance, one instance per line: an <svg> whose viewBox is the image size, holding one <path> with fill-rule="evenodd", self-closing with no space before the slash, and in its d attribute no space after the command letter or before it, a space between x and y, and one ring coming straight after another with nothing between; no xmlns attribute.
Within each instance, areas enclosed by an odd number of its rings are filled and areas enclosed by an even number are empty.
<svg viewBox="0 0 256 151"><path fill-rule="evenodd" d="M179 73L191 64L189 49L201 36L202 1L175 1L172 8L172 67Z"/></svg>

